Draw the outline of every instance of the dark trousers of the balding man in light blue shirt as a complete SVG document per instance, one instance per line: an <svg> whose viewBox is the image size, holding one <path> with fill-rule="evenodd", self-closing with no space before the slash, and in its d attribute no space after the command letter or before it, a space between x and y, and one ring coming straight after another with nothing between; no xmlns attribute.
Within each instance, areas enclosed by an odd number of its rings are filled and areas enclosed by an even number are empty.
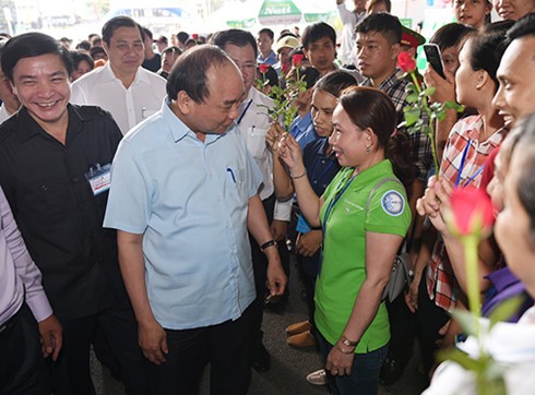
<svg viewBox="0 0 535 395"><path fill-rule="evenodd" d="M212 395L245 395L251 374L247 347L251 313L249 307L236 321L193 330L165 330L169 349L166 362L160 366L148 362L153 394L198 394L204 368L210 362Z"/></svg>

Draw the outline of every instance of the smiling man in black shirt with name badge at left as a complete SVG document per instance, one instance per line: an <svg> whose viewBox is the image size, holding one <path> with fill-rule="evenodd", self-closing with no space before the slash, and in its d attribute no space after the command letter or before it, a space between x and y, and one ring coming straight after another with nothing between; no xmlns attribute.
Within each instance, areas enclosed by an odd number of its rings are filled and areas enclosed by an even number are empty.
<svg viewBox="0 0 535 395"><path fill-rule="evenodd" d="M102 227L121 132L108 112L69 104L71 64L52 37L15 36L1 62L22 108L0 127L0 184L64 331L58 360L48 361L54 392L94 392L88 352L100 325L127 392L142 394L144 358L116 235Z"/></svg>

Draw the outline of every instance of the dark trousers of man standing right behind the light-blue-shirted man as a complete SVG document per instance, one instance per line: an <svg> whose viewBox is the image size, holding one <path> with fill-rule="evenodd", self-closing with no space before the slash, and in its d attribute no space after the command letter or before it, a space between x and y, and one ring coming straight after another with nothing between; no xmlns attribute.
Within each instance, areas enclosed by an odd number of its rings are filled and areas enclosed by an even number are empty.
<svg viewBox="0 0 535 395"><path fill-rule="evenodd" d="M268 216L268 222L271 224L273 222L273 211L275 210L275 195L262 201L265 210L265 215ZM252 338L253 345L262 340L262 316L264 311L264 298L268 292L265 287L265 282L268 280L266 270L268 270L268 259L264 253L260 250L260 246L257 243L252 235L249 235L249 240L251 243L251 254L252 254L252 268L254 273L254 286L257 288L257 299L253 302L253 319L252 319ZM289 278L289 252L284 241L278 242L278 254L281 255L281 262L286 275Z"/></svg>

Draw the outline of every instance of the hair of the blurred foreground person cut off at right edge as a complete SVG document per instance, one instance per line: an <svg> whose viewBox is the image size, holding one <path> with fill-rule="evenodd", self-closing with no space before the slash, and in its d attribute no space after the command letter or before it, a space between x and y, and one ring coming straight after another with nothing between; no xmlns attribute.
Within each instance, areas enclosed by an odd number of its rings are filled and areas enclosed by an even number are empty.
<svg viewBox="0 0 535 395"><path fill-rule="evenodd" d="M516 132L516 130L520 130L520 132ZM513 129L512 133L519 136L519 141L512 152L514 153L518 149L528 151L528 155L525 155L524 158L524 166L522 166L523 171L518 180L516 193L530 218L530 238L532 243L535 243L535 171L533 171L535 168L535 112L524 118Z"/></svg>

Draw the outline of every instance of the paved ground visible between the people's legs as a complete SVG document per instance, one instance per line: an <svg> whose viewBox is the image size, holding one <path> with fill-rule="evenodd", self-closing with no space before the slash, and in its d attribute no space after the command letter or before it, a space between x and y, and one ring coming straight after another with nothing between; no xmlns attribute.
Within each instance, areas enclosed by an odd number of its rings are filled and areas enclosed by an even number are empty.
<svg viewBox="0 0 535 395"><path fill-rule="evenodd" d="M296 271L294 271L294 274ZM252 373L250 395L325 395L326 386L310 385L306 375L321 368L320 356L314 349L294 349L286 345L285 327L306 319L305 301L300 298L300 284L297 276L292 277L290 298L281 311L265 311L264 345L272 356L272 368L266 373ZM417 352L415 352L417 355ZM418 361L413 358L406 367L404 376L390 387L381 386L380 395L415 395L425 388L425 382L417 372ZM120 383L109 372L93 360L93 378L97 395L123 394ZM202 395L209 394L207 374L203 382ZM230 395L230 394L229 394Z"/></svg>

